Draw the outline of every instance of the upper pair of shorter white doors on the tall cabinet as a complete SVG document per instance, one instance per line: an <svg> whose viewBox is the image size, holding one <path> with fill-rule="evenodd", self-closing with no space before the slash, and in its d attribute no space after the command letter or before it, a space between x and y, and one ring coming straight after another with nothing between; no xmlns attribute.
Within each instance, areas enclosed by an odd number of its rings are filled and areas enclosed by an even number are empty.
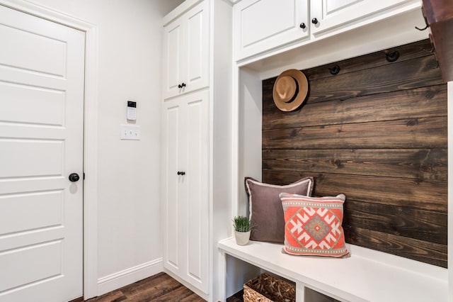
<svg viewBox="0 0 453 302"><path fill-rule="evenodd" d="M164 26L164 99L209 85L207 1Z"/></svg>

